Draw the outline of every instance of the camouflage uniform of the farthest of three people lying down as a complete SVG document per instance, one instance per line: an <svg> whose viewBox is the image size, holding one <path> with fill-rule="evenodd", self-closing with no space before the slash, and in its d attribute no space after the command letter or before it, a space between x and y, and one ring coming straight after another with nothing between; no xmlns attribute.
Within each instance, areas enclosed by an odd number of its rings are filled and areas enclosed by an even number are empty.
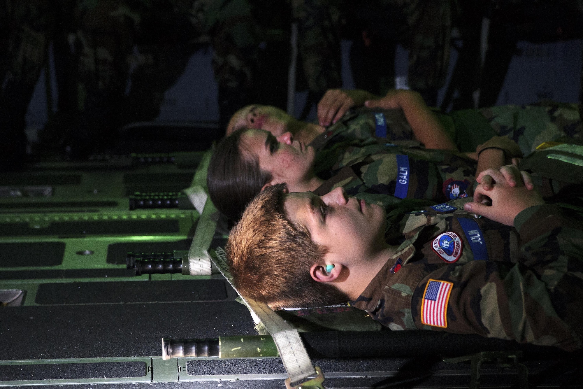
<svg viewBox="0 0 583 389"><path fill-rule="evenodd" d="M449 114L436 112L445 131L462 151L475 151L476 146L492 136L501 135L515 141L524 155L529 155L542 142L557 141L567 136L583 139L582 104L542 101L525 106L497 106L479 110L459 110ZM387 132L384 138L374 138L377 116L382 113ZM468 115L470 113L470 115ZM463 114L463 115L462 115ZM461 119L465 118L463 122ZM473 134L472 134L473 132ZM466 143L459 141L461 136ZM469 135L469 136L468 136ZM355 108L336 124L312 141L317 151L315 171L329 169L349 146L367 146L373 143L399 143L419 146L402 110ZM333 161L332 164L330 161Z"/></svg>

